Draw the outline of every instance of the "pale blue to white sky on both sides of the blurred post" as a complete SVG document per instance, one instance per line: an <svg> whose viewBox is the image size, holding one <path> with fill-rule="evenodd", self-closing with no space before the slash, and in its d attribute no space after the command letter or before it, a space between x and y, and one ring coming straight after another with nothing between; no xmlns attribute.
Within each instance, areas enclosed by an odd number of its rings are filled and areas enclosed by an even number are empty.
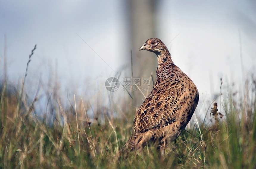
<svg viewBox="0 0 256 169"><path fill-rule="evenodd" d="M255 9L255 1L160 1L157 38L168 44L179 34L168 49L198 87L201 99L212 99L221 77L226 86L232 81L241 86L238 30L244 77L255 73ZM56 72L64 96L67 91L84 96L99 90L107 95L105 80L125 66L123 71L130 71L124 59L131 49L126 14L125 4L117 0L0 1L0 72L6 35L7 72L14 84L24 77L28 55L37 44L27 76L32 96L40 76L47 83ZM139 47L132 49L135 57Z"/></svg>

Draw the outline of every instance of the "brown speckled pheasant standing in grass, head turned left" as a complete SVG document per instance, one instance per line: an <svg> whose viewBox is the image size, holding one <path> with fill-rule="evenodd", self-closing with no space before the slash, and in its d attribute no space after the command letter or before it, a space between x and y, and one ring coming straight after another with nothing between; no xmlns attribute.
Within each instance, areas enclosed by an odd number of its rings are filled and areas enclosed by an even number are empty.
<svg viewBox="0 0 256 169"><path fill-rule="evenodd" d="M141 151L151 142L164 154L165 147L176 140L190 121L199 94L191 79L174 65L170 52L160 39L148 39L139 50L157 55L157 79L135 115L132 136L118 154Z"/></svg>

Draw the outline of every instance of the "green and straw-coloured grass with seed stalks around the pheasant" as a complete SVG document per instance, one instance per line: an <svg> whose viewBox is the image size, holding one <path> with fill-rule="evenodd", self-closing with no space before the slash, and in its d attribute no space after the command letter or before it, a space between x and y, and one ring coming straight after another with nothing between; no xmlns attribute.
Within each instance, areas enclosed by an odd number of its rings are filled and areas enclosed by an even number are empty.
<svg viewBox="0 0 256 169"><path fill-rule="evenodd" d="M253 78L252 86L256 86ZM51 105L46 105L54 112L49 124L46 116L39 118L34 112L36 97L27 105L22 101L23 87L9 90L4 81L0 168L256 168L256 92L252 86L241 91L240 97L227 88L221 107L224 117L219 119L217 105L212 106L213 122L193 124L164 156L155 147L145 147L141 153L117 159L115 154L131 135L132 110L125 112L127 119L119 119L103 108L94 110L95 118L89 119L87 110L93 109L89 102L81 99L64 109L67 106L54 96ZM115 106L109 111L116 111Z"/></svg>

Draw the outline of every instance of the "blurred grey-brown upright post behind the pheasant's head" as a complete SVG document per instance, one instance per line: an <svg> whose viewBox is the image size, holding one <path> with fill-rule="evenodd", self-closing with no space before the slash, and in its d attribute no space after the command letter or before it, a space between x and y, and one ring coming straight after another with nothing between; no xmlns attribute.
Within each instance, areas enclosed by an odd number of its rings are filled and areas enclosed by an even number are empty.
<svg viewBox="0 0 256 169"><path fill-rule="evenodd" d="M132 47L133 76L141 77L141 85L143 77L151 78L151 75L153 75L154 81L156 78L157 57L151 52L139 51L139 48L146 40L155 37L156 3L157 1L155 0L127 0L129 6L129 38ZM129 58L129 60L131 59ZM144 85L140 87L150 88L151 91L153 85L151 80L151 86ZM150 91L142 92L147 96ZM135 91L134 99L134 106L138 107L145 100L145 97L140 91Z"/></svg>

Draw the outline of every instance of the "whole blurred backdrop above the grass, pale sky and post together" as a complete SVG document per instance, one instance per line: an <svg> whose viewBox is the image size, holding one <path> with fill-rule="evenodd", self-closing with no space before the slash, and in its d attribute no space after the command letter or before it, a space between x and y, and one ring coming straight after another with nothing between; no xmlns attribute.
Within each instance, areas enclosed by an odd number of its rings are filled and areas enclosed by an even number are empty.
<svg viewBox="0 0 256 169"><path fill-rule="evenodd" d="M68 109L75 94L89 103L88 112L124 105L115 109L122 116L150 91L120 85L110 92L105 81L116 77L123 84L133 72L150 78L151 90L157 59L139 48L156 37L196 84L196 114L204 117L215 99L221 102L220 86L236 94L255 77L255 9L252 0L0 1L0 79L20 88L37 44L24 85L24 100L38 100L37 114L51 111L46 105L56 95Z"/></svg>

